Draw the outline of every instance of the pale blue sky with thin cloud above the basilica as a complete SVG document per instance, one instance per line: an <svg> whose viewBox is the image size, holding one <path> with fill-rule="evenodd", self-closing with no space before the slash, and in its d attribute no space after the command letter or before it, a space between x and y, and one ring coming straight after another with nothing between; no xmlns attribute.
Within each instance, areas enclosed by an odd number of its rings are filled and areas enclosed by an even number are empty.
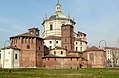
<svg viewBox="0 0 119 78"><path fill-rule="evenodd" d="M40 29L55 13L58 0L0 0L0 47L9 37L32 27ZM75 19L75 31L87 34L88 46L119 47L119 0L60 0L62 12ZM101 42L100 45L104 45Z"/></svg>

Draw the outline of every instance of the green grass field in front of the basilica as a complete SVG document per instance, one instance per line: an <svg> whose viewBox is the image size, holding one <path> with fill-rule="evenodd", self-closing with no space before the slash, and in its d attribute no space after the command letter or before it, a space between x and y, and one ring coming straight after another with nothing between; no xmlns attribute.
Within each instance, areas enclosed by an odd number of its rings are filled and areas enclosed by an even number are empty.
<svg viewBox="0 0 119 78"><path fill-rule="evenodd" d="M100 74L99 71L102 71ZM0 69L0 78L119 78L119 68L87 69Z"/></svg>

